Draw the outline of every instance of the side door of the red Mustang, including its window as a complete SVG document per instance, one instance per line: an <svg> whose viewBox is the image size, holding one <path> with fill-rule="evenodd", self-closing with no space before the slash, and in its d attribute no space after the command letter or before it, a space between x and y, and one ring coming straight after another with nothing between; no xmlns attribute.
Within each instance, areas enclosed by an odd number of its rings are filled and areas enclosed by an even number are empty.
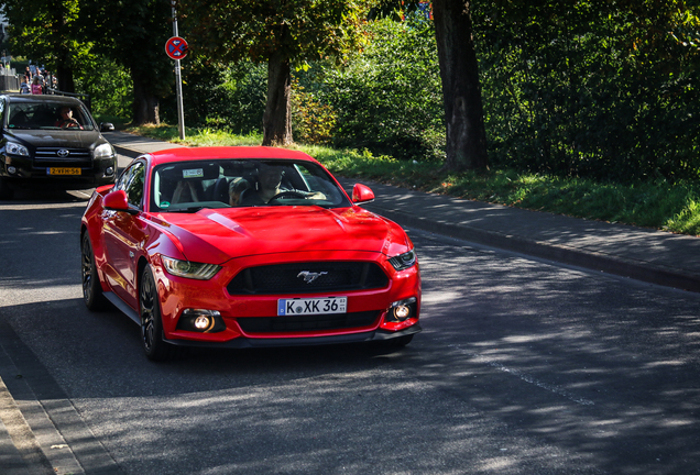
<svg viewBox="0 0 700 475"><path fill-rule="evenodd" d="M141 217L145 183L145 163L134 162L127 168L114 189L123 189L135 214L124 211L105 211L103 239L108 281L124 302L138 309L136 258L146 239L146 225Z"/></svg>

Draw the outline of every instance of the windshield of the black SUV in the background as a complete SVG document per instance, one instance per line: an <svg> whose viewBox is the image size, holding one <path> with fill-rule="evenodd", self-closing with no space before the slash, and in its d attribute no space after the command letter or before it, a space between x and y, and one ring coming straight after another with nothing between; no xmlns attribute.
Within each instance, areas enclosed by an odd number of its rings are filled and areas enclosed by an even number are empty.
<svg viewBox="0 0 700 475"><path fill-rule="evenodd" d="M79 103L68 104L52 101L10 102L7 118L8 129L94 129L87 110Z"/></svg>

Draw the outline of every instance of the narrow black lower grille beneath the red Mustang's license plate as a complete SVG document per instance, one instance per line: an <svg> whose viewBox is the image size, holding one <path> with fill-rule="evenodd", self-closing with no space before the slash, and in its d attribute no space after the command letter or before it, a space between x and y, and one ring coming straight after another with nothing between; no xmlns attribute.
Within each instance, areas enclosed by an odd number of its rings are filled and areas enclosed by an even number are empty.
<svg viewBox="0 0 700 475"><path fill-rule="evenodd" d="M305 332L369 327L379 318L376 310L293 317L245 317L237 319L245 333Z"/></svg>

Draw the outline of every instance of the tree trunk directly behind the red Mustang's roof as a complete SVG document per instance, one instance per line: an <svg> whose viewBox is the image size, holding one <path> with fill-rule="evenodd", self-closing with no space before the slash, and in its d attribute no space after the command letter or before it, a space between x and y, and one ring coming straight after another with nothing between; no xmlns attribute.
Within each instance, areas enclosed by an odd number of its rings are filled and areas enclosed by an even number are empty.
<svg viewBox="0 0 700 475"><path fill-rule="evenodd" d="M292 69L289 58L275 53L267 62L267 103L263 114L263 145L289 145L292 139Z"/></svg>

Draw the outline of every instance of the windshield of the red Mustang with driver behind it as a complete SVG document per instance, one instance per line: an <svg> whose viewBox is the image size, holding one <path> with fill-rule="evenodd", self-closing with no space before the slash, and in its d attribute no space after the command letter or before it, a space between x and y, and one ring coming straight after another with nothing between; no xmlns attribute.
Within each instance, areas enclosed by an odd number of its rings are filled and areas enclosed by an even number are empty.
<svg viewBox="0 0 700 475"><path fill-rule="evenodd" d="M154 169L151 186L152 211L351 206L322 167L304 161L211 159L171 163Z"/></svg>

